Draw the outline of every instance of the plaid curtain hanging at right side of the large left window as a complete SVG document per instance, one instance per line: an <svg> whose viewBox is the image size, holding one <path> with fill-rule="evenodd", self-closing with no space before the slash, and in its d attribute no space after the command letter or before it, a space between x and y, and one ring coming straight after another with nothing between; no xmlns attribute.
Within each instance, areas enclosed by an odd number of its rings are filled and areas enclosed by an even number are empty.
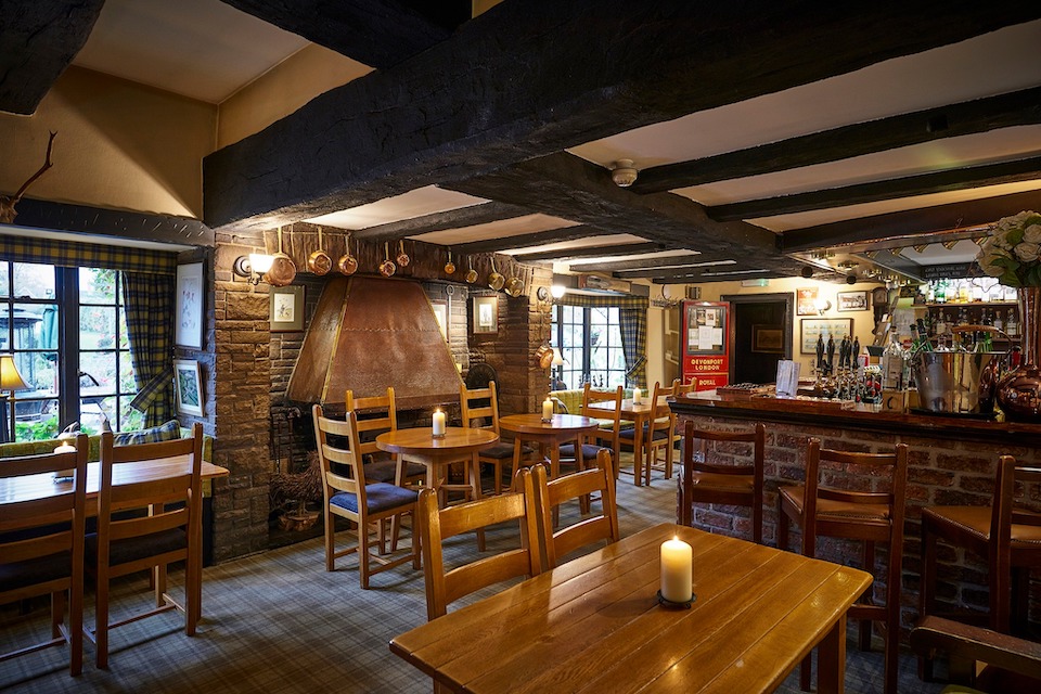
<svg viewBox="0 0 1041 694"><path fill-rule="evenodd" d="M127 336L138 395L130 407L144 413L144 426L158 426L174 413L174 277L123 272Z"/></svg>

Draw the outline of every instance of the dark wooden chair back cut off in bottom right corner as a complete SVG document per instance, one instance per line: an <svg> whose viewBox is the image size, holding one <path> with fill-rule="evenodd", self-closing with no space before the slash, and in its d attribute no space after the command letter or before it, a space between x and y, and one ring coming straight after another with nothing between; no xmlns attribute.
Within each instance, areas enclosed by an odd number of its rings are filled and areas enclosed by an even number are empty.
<svg viewBox="0 0 1041 694"><path fill-rule="evenodd" d="M911 630L911 650L931 659L948 657L944 692L1041 692L1041 643L936 616ZM974 687L974 689L967 689Z"/></svg>

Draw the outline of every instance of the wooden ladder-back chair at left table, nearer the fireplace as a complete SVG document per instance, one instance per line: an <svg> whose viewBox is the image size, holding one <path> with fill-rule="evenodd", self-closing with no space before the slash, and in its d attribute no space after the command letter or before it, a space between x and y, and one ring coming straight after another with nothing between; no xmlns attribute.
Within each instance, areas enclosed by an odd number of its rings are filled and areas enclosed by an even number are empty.
<svg viewBox="0 0 1041 694"><path fill-rule="evenodd" d="M137 481L133 468L144 461L188 460L162 479ZM190 438L114 446L112 432L101 435L101 486L98 532L87 536L87 566L95 574L94 629L99 668L108 667L108 631L170 609L184 614L184 633L195 635L203 597L203 425ZM145 513L139 515L134 512ZM183 604L167 592L167 567L184 562ZM152 571L155 606L110 621L110 582L144 569Z"/></svg>

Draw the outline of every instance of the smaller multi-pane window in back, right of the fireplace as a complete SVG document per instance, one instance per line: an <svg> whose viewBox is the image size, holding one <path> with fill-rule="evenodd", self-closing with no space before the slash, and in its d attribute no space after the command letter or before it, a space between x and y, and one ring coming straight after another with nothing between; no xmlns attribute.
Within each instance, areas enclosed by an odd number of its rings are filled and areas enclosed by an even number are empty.
<svg viewBox="0 0 1041 694"><path fill-rule="evenodd" d="M564 364L556 367L557 389L596 388L626 384L626 355L621 348L621 323L617 307L555 306L554 346L561 348Z"/></svg>

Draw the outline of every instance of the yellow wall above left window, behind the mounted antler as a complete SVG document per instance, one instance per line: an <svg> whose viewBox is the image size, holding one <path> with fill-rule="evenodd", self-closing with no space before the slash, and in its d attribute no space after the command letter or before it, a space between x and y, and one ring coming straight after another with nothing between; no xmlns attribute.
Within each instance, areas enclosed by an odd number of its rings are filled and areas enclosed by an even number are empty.
<svg viewBox="0 0 1041 694"><path fill-rule="evenodd" d="M33 116L0 113L0 192L15 193L43 164L49 130L54 166L26 197L202 215L216 106L72 66Z"/></svg>

